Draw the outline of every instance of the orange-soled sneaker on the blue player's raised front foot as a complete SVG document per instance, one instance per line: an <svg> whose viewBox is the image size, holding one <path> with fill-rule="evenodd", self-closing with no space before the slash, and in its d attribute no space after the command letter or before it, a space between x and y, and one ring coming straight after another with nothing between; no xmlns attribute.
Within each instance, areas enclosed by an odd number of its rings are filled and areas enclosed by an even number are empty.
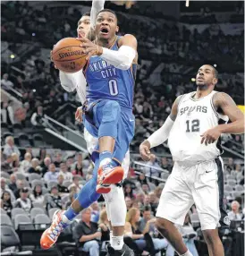
<svg viewBox="0 0 245 256"><path fill-rule="evenodd" d="M110 163L100 166L97 170L97 193L110 192L110 185L120 183L123 175L122 166L114 167Z"/></svg>

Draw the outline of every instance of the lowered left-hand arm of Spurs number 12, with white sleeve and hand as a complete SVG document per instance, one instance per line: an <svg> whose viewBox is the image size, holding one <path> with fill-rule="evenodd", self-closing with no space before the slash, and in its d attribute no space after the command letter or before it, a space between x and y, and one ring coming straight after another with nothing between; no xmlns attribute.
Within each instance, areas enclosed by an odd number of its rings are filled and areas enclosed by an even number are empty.
<svg viewBox="0 0 245 256"><path fill-rule="evenodd" d="M148 137L148 140L143 141L140 144L139 153L141 155L141 158L143 158L143 160L148 161L151 158L155 158L155 156L150 153L150 149L160 144L163 144L168 139L169 133L173 127L173 123L178 114L178 104L181 98L182 96L179 96L173 102L171 114L165 120L165 124L163 124L163 126L160 127L158 130L156 130L156 132L152 133Z"/></svg>

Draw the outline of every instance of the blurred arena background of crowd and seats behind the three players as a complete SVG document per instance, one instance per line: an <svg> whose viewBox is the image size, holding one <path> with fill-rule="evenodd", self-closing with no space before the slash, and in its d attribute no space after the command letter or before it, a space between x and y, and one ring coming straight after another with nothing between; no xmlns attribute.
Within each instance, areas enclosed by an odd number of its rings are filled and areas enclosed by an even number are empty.
<svg viewBox="0 0 245 256"><path fill-rule="evenodd" d="M155 161L143 163L139 144L164 123L176 97L196 90L202 64L215 66L216 90L244 109L244 3L190 1L187 8L184 1L106 1L105 6L117 13L119 34L131 33L139 43L136 131L123 189L127 221L138 223L142 233L149 225L144 239L151 244L164 240L154 216L173 160L165 143L155 149ZM71 205L93 169L83 126L74 118L79 98L63 90L49 59L58 40L76 37L77 21L90 7L90 1L1 2L1 255L89 255L76 238L84 213L54 249L44 252L39 239L55 209ZM243 135L223 136L224 203L232 220L229 229L220 230L225 256L244 255L243 143ZM106 224L103 197L89 211L99 228ZM179 228L193 255L208 255L195 206ZM106 255L103 232L97 243ZM174 255L167 242L140 251L137 241L128 240L137 255Z"/></svg>

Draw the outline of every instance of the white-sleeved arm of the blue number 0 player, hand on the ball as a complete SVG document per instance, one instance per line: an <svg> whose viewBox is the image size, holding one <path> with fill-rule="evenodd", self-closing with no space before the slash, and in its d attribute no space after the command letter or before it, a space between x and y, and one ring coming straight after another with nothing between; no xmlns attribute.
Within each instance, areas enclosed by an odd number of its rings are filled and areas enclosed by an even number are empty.
<svg viewBox="0 0 245 256"><path fill-rule="evenodd" d="M137 57L137 39L130 34L118 40L118 51L97 46L88 38L77 39L81 41L80 47L83 47L83 52L88 54L87 59L91 55L99 55L107 63L114 65L118 69L128 70L133 60Z"/></svg>

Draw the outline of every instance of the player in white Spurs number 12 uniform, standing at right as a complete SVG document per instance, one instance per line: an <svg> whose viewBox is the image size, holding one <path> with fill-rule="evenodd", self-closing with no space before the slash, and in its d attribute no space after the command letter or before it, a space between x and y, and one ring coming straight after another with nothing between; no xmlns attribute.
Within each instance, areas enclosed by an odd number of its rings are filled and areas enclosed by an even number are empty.
<svg viewBox="0 0 245 256"><path fill-rule="evenodd" d="M156 211L159 232L176 252L191 256L174 224L183 225L195 203L210 256L224 256L217 227L229 225L224 210L222 133L244 133L244 115L226 93L215 91L218 73L211 65L199 68L197 91L173 103L165 124L139 146L144 160L154 158L150 149L168 139L174 166L165 183ZM231 124L226 124L228 119Z"/></svg>

